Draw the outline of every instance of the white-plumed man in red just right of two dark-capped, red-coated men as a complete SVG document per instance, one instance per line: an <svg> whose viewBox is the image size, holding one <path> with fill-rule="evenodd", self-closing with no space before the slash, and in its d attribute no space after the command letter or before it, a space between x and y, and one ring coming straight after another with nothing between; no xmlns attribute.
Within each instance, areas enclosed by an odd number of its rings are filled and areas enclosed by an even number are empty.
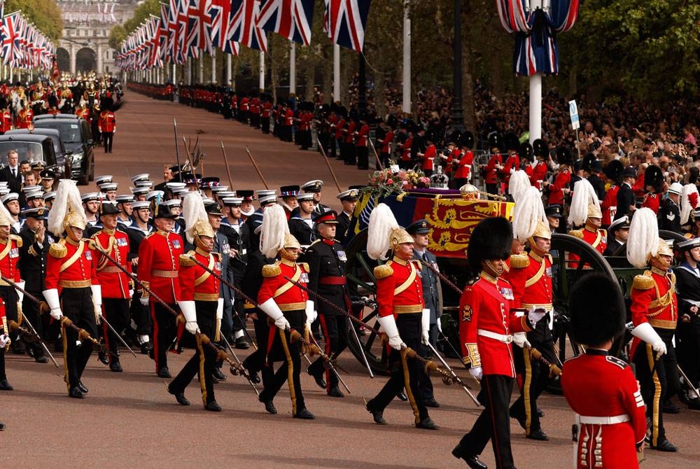
<svg viewBox="0 0 700 469"><path fill-rule="evenodd" d="M219 295L219 280L192 260L195 258L209 269L221 275L221 253L212 253L216 233L207 221L204 202L199 193L190 193L183 202L183 214L187 225L186 237L195 246L194 251L181 255L180 288L178 300L180 311L185 316L185 328L195 335L197 347L178 375L168 386L168 392L175 396L180 405L190 405L185 397L185 388L195 374L200 377L204 409L221 412L221 406L214 398L212 374L216 366L216 351L211 346L203 346L202 334L212 341L220 339L223 298Z"/></svg>

